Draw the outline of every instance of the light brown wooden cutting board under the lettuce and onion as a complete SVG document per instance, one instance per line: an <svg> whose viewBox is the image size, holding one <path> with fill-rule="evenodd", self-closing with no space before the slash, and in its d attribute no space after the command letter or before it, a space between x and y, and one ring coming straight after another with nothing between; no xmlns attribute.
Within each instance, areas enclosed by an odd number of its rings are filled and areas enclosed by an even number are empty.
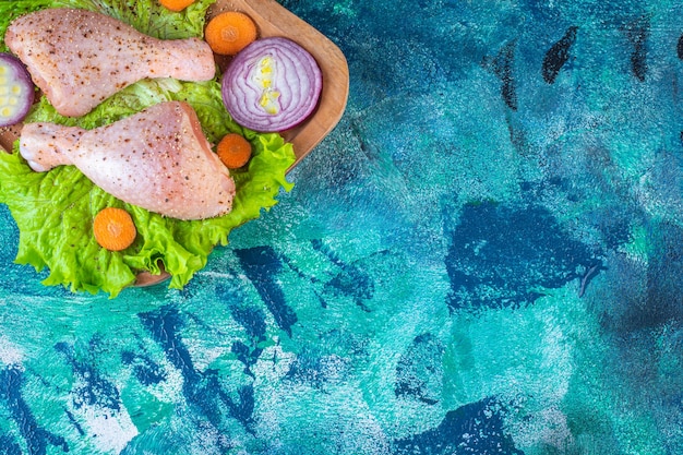
<svg viewBox="0 0 683 455"><path fill-rule="evenodd" d="M217 0L208 16L223 11L247 13L256 23L259 37L284 36L295 40L315 58L321 68L323 89L319 106L304 122L281 133L293 145L297 156L293 168L335 128L344 113L349 91L346 58L326 36L275 0ZM229 58L217 56L216 62L224 70L229 64ZM10 151L21 133L21 127L0 128L0 147ZM135 285L148 286L166 278L166 274L151 275L145 272L137 276Z"/></svg>

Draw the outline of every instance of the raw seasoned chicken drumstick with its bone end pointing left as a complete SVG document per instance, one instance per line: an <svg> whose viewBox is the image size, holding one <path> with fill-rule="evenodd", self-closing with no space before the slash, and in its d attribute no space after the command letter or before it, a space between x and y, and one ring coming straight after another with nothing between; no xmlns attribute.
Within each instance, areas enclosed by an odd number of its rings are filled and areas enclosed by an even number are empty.
<svg viewBox="0 0 683 455"><path fill-rule="evenodd" d="M235 182L202 133L190 105L167 101L84 130L26 123L20 153L36 171L75 165L103 190L180 219L230 211Z"/></svg>

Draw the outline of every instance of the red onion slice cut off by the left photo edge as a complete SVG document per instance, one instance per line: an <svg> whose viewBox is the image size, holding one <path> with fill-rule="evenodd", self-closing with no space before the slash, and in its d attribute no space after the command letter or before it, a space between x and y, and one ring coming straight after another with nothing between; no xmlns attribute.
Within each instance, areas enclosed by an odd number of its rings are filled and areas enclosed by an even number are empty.
<svg viewBox="0 0 683 455"><path fill-rule="evenodd" d="M35 97L26 67L11 53L0 52L0 128L24 120Z"/></svg>

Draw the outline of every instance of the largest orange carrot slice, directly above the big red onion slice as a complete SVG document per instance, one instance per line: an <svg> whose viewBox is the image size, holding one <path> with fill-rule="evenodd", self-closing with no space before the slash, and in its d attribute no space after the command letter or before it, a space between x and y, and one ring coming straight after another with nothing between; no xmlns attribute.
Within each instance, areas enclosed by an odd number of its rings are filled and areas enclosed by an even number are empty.
<svg viewBox="0 0 683 455"><path fill-rule="evenodd" d="M204 39L214 53L233 56L256 39L256 24L244 13L226 11L208 21Z"/></svg>

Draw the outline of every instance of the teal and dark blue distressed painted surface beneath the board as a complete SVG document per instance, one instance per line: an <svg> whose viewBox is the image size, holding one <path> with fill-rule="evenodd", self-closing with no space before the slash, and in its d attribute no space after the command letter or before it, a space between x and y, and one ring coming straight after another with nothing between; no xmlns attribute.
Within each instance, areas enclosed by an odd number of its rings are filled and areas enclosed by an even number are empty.
<svg viewBox="0 0 683 455"><path fill-rule="evenodd" d="M0 453L682 453L681 7L281 3L348 109L185 289L45 288L0 209Z"/></svg>

